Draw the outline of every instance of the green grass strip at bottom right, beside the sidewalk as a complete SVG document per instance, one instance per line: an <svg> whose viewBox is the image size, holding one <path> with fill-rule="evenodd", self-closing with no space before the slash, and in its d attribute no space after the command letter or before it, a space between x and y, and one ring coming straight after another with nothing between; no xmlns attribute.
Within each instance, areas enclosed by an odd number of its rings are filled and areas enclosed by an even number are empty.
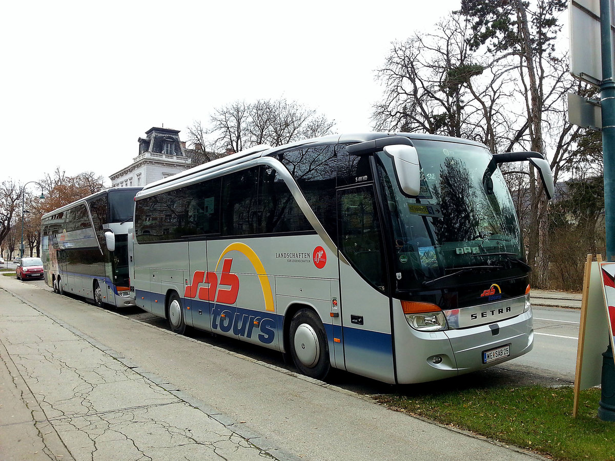
<svg viewBox="0 0 615 461"><path fill-rule="evenodd" d="M615 422L598 419L599 389L581 392L576 418L571 387L494 387L375 398L397 411L555 460L615 460Z"/></svg>

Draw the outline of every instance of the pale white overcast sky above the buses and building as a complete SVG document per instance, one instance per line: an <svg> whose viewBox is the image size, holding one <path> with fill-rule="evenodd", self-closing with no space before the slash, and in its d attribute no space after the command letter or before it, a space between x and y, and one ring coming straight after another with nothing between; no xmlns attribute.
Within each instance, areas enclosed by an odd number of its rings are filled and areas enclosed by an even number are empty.
<svg viewBox="0 0 615 461"><path fill-rule="evenodd" d="M236 100L285 98L371 128L392 41L459 0L30 1L2 7L0 182L108 176L154 126L207 124ZM36 189L35 185L28 187ZM34 190L31 192L35 192Z"/></svg>

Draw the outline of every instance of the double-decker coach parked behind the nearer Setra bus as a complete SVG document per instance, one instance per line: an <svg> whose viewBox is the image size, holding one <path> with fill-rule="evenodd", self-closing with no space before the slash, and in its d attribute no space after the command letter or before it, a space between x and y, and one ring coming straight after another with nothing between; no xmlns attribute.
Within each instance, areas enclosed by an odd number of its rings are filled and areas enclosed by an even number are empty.
<svg viewBox="0 0 615 461"><path fill-rule="evenodd" d="M130 296L128 232L141 187L113 187L41 218L44 278L57 293L102 307L135 305Z"/></svg>

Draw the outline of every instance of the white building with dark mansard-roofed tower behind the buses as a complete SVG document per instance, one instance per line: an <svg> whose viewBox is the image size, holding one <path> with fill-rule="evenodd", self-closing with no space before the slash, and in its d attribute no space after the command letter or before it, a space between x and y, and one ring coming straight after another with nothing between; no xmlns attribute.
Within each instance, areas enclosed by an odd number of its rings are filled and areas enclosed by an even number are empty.
<svg viewBox="0 0 615 461"><path fill-rule="evenodd" d="M113 187L145 186L192 166L180 130L153 127L145 135L138 139L139 154L132 164L109 176Z"/></svg>

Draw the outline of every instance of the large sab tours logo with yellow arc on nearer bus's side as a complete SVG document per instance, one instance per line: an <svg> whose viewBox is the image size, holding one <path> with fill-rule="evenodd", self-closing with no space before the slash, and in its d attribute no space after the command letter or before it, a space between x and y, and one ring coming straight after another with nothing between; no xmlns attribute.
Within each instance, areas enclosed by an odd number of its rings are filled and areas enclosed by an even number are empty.
<svg viewBox="0 0 615 461"><path fill-rule="evenodd" d="M228 333L232 328L235 335L247 338L252 337L252 334L256 331L259 341L264 344L271 344L276 336L276 321L273 318L258 315L258 312L255 312L255 315L232 312L224 306L224 304L235 304L237 296L239 296L239 277L231 272L233 259L224 258L231 251L243 254L250 261L256 275L258 275L261 290L263 290L265 311L275 312L271 284L263 263L254 250L245 243L231 243L224 248L213 272L196 270L192 276L192 284L186 286L184 296L189 299L198 298L212 303L210 305L212 329L219 329L223 333ZM222 271L220 278L218 278L216 271L220 262L222 262Z"/></svg>

